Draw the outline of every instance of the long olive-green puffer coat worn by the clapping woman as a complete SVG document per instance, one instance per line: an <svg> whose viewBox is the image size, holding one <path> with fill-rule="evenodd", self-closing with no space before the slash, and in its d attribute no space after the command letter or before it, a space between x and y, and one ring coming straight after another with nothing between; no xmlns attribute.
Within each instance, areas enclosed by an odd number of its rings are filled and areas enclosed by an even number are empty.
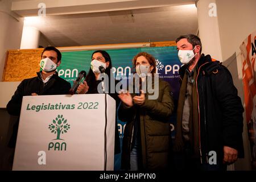
<svg viewBox="0 0 256 182"><path fill-rule="evenodd" d="M148 100L148 95L152 94L146 93L144 105L126 107L122 103L119 107L119 119L127 122L122 142L121 168L123 169L130 169L131 141L133 139L135 115L138 111L136 108L138 107L142 168L146 170L163 170L170 167L172 147L169 121L174 110L174 101L168 82L159 79L158 83L159 95L156 100ZM132 94L132 97L134 97L134 94Z"/></svg>

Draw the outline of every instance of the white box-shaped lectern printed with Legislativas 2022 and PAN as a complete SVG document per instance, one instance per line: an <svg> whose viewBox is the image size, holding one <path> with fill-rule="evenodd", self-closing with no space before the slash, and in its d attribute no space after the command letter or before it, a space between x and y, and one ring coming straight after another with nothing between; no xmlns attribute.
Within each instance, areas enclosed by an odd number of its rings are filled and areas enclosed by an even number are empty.
<svg viewBox="0 0 256 182"><path fill-rule="evenodd" d="M113 170L108 94L23 97L13 170Z"/></svg>

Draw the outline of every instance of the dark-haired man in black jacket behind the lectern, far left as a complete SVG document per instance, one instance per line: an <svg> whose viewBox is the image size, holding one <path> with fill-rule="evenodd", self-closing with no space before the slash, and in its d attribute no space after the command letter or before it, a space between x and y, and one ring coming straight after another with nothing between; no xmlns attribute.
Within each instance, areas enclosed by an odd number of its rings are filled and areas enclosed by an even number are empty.
<svg viewBox="0 0 256 182"><path fill-rule="evenodd" d="M23 96L68 94L71 84L60 78L56 72L56 68L61 63L60 51L52 46L46 47L42 52L41 59L40 67L42 71L37 73L37 77L23 80L8 102L6 109L9 114L20 115ZM18 122L14 125L13 135L9 142L11 148L15 147L17 133Z"/></svg>

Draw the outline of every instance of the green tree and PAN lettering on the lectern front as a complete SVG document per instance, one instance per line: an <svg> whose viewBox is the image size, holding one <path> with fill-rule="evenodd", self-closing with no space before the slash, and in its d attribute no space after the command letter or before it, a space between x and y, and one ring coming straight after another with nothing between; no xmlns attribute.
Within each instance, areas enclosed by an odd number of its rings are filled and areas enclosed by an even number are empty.
<svg viewBox="0 0 256 182"><path fill-rule="evenodd" d="M63 115L59 114L55 119L52 120L52 123L48 126L48 129L51 133L54 133L56 138L52 140L64 140L61 139L61 134L67 133L70 129L70 125L67 122L67 119L63 117ZM65 142L50 142L48 144L48 150L66 150L67 144Z"/></svg>

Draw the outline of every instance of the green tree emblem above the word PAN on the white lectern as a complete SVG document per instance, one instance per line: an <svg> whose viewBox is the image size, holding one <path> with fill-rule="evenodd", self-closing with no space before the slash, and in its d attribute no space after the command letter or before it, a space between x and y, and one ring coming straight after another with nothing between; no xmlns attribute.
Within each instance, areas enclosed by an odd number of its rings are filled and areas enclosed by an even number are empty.
<svg viewBox="0 0 256 182"><path fill-rule="evenodd" d="M57 134L57 138L54 140L63 140L60 138L60 134L67 133L70 129L70 125L67 123L67 119L63 118L63 115L58 115L55 119L52 120L51 125L48 129L51 133Z"/></svg>

